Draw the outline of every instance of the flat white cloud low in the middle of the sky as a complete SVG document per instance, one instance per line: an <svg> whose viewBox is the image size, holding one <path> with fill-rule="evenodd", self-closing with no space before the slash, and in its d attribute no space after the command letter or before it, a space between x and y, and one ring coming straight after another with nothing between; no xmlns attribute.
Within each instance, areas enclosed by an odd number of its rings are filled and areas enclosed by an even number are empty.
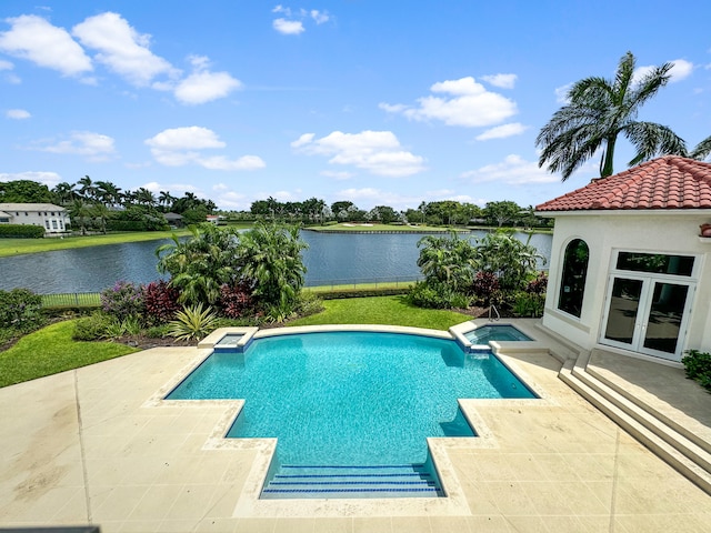
<svg viewBox="0 0 711 533"><path fill-rule="evenodd" d="M377 175L405 177L425 170L424 159L403 150L391 131L334 131L321 139L304 133L291 147L309 155L330 157L329 163L353 165Z"/></svg>

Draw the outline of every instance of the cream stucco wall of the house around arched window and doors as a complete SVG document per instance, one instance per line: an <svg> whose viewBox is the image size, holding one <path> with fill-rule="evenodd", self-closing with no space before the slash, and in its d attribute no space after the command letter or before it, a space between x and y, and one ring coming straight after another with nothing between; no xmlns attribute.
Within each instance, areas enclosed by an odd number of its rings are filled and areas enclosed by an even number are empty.
<svg viewBox="0 0 711 533"><path fill-rule="evenodd" d="M711 211L662 211L653 214L624 211L557 217L543 325L582 348L591 349L600 338L613 250L694 254L700 263L699 276L684 350L711 351L711 239L699 238L699 225L703 222L711 222ZM590 249L580 319L557 309L563 254L572 239L584 240Z"/></svg>

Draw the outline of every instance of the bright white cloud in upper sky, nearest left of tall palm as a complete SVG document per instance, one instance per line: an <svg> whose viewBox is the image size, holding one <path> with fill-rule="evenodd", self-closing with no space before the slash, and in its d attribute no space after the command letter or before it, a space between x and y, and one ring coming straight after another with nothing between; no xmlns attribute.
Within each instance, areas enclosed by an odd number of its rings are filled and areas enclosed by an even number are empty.
<svg viewBox="0 0 711 533"><path fill-rule="evenodd" d="M492 125L518 112L513 100L488 91L472 77L441 81L430 90L450 97L423 97L418 99L419 107L381 103L380 108L402 113L411 120L441 120L448 125L465 128Z"/></svg>

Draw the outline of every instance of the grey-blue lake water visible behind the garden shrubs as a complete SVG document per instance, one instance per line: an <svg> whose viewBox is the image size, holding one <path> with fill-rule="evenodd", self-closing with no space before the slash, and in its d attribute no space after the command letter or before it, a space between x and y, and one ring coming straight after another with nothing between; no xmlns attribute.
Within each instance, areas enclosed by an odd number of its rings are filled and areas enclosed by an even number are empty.
<svg viewBox="0 0 711 533"><path fill-rule="evenodd" d="M420 276L413 233L318 233L303 231L307 285L409 281ZM484 235L474 231L469 238ZM527 234L517 233L523 241ZM156 249L169 240L108 244L0 258L0 289L27 288L39 294L100 292L119 280L149 283L160 279ZM552 235L533 234L530 243L547 261ZM540 265L542 266L542 265Z"/></svg>

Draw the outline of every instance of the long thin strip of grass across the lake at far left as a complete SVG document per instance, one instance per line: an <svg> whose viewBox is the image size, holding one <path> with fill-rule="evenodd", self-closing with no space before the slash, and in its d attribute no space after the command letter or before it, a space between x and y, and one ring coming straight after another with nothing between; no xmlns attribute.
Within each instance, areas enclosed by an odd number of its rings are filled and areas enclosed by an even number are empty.
<svg viewBox="0 0 711 533"><path fill-rule="evenodd" d="M188 235L188 230L174 231L132 231L109 233L107 235L64 237L46 239L0 239L0 258L21 253L51 252L72 248L120 244L122 242L156 241L170 239L173 234Z"/></svg>

